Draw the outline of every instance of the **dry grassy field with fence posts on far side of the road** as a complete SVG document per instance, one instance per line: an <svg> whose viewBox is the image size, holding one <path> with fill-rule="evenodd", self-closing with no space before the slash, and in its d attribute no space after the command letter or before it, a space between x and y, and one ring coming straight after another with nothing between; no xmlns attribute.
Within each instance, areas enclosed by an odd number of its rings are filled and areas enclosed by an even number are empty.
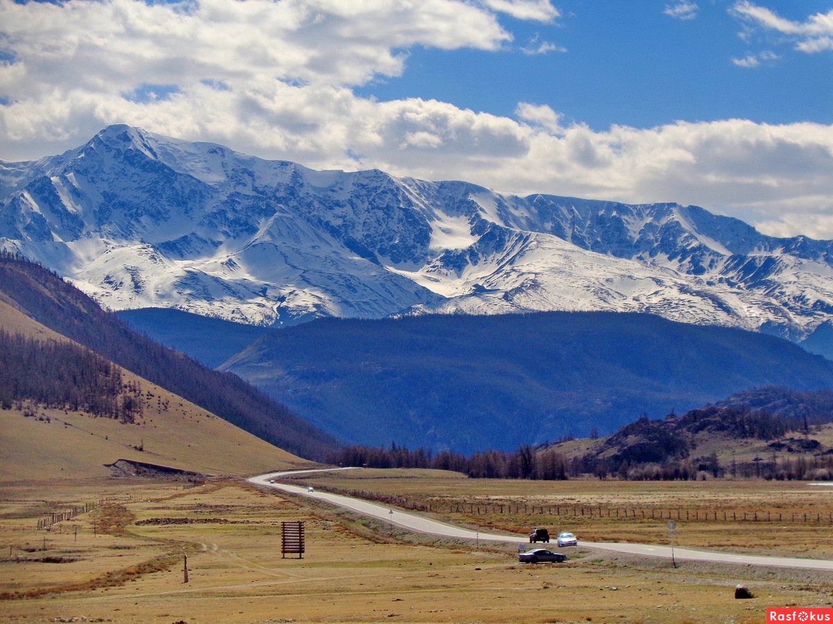
<svg viewBox="0 0 833 624"><path fill-rule="evenodd" d="M304 481L317 488L402 496L470 526L516 532L549 527L551 532L575 532L586 541L667 544L668 521L674 519L679 546L833 558L833 488L764 480L436 478L435 472L363 469L309 475ZM561 515L556 514L557 508L561 508ZM678 515L682 519L677 519ZM819 516L821 521L816 520Z"/></svg>

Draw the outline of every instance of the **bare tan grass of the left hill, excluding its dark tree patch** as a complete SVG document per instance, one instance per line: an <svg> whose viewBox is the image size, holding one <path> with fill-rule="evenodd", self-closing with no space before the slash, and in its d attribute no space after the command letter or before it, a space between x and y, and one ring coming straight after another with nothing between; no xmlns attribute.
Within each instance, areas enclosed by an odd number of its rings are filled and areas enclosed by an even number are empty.
<svg viewBox="0 0 833 624"><path fill-rule="evenodd" d="M0 330L72 343L2 300ZM214 475L310 465L147 379L123 369L122 378L142 390L142 415L132 423L25 400L0 408L0 480L107 477L104 464L122 458Z"/></svg>

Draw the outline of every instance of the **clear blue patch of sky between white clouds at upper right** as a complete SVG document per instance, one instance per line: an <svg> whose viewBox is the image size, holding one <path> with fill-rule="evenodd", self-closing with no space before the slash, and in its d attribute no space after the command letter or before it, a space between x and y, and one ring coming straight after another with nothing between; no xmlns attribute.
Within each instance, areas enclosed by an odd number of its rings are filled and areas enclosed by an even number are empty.
<svg viewBox="0 0 833 624"><path fill-rule="evenodd" d="M744 22L730 11L735 4L706 0L694 17L680 19L665 12L674 2L557 2L561 17L552 23L503 19L515 37L506 52L416 47L402 77L359 92L382 100L436 98L501 116L510 116L517 102L537 102L596 130L735 117L833 122L833 54L797 52L780 33L742 40ZM766 6L801 22L829 12L833 2ZM556 50L518 53L543 42ZM733 62L763 52L779 58L756 67Z"/></svg>

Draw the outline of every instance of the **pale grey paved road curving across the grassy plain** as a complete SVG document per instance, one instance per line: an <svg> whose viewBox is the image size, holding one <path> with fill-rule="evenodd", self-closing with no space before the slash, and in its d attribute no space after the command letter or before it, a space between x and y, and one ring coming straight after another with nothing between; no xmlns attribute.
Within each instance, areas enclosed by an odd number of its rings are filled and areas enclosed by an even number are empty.
<svg viewBox="0 0 833 624"><path fill-rule="evenodd" d="M484 542L506 542L529 545L529 537L521 534L490 533L471 531L471 529L455 527L445 522L437 522L422 518L416 513L393 510L379 503L370 503L360 498L350 498L341 494L327 492L308 492L307 487L287 485L285 483L269 483L270 479L294 476L302 473L332 472L332 470L353 470L357 468L322 468L320 470L292 470L282 473L268 473L249 478L249 483L277 488L283 492L299 494L309 498L326 501L341 508L361 513L368 518L376 518L394 526L409 529L414 532L436 535L438 537L452 537L466 540L482 540ZM671 559L671 547L651 544L631 544L619 542L581 542L582 547L601 548L603 550L626 552L643 557L665 557ZM798 567L810 570L833 571L833 561L824 559L799 559L797 557L761 557L755 555L732 555L724 552L709 552L691 550L690 548L674 548L674 558L679 561L704 561L736 563L747 566L763 567Z"/></svg>

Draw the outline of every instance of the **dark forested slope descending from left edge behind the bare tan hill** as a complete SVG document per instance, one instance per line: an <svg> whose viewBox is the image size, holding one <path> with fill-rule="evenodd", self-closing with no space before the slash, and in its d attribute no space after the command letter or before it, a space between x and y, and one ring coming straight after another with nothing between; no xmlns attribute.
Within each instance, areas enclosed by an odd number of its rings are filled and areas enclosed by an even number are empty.
<svg viewBox="0 0 833 624"><path fill-rule="evenodd" d="M132 332L80 290L27 260L0 255L0 294L58 334L287 451L318 458L338 445L237 376L207 369Z"/></svg>

